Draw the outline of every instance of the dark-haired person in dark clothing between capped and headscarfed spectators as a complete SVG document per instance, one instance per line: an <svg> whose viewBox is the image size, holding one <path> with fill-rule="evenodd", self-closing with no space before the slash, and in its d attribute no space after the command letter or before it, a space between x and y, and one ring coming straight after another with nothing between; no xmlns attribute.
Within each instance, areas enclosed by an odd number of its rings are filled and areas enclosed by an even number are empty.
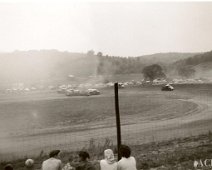
<svg viewBox="0 0 212 170"><path fill-rule="evenodd" d="M91 162L89 162L90 155L88 152L80 151L78 154L78 161L71 162L70 165L76 170L96 170Z"/></svg>

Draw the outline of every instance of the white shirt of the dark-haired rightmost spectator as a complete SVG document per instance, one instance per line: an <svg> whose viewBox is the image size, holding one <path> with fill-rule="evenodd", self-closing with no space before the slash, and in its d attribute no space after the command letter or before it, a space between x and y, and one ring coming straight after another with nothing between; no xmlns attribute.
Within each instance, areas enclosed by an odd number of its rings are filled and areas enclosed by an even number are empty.
<svg viewBox="0 0 212 170"><path fill-rule="evenodd" d="M122 157L118 161L118 170L137 170L135 158L133 156L129 158Z"/></svg>

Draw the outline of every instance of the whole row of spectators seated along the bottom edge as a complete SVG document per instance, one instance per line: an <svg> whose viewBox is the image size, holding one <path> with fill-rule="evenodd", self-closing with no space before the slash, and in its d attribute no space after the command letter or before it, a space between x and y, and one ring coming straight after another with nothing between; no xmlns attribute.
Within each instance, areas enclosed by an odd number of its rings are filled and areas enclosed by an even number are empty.
<svg viewBox="0 0 212 170"><path fill-rule="evenodd" d="M104 159L97 161L100 170L137 170L136 160L131 156L131 149L127 145L121 145L119 151L121 159L117 160L113 150L106 149L103 153ZM26 170L37 170L34 165L33 159L25 161ZM4 170L15 169L12 164L7 164ZM52 150L49 158L42 162L41 170L97 170L97 168L90 161L90 155L86 151L80 151L77 156L70 155L68 162L63 163L60 160L60 150Z"/></svg>

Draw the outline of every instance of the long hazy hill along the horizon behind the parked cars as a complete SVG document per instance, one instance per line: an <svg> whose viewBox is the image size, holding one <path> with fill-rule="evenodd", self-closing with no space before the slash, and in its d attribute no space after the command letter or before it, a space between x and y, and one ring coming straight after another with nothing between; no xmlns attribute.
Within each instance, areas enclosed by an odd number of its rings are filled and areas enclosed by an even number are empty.
<svg viewBox="0 0 212 170"><path fill-rule="evenodd" d="M186 65L197 60L196 56L202 55L200 53L157 53L126 58L57 50L15 51L0 53L0 79L2 84L62 82L67 80L68 75L87 78L110 75L115 79L116 75L127 77L131 74L141 75L145 66L156 63L164 69L169 68L170 65L172 67L173 62L175 65L182 65L181 63Z"/></svg>

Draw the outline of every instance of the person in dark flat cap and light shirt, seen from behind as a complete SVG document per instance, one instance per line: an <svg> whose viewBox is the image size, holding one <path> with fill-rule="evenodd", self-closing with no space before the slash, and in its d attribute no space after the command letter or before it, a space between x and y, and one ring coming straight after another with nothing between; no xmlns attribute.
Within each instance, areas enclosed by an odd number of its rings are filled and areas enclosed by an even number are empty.
<svg viewBox="0 0 212 170"><path fill-rule="evenodd" d="M42 170L62 170L62 162L59 157L60 150L53 150L49 153L49 159L42 163Z"/></svg>

